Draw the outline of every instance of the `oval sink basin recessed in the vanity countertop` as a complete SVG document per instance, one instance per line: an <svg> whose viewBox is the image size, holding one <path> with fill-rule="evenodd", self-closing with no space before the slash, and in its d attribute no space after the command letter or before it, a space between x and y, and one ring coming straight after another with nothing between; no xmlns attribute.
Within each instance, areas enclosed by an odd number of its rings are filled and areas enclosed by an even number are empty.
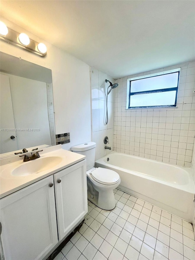
<svg viewBox="0 0 195 260"><path fill-rule="evenodd" d="M12 171L13 176L27 176L36 174L51 169L62 162L62 157L49 156L45 158L38 158L29 162L24 162Z"/></svg>

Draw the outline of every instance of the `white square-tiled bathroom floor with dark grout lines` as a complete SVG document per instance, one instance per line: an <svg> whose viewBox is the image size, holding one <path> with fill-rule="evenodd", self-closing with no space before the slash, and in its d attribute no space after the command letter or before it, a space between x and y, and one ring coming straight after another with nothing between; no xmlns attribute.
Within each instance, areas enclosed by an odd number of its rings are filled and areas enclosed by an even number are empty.
<svg viewBox="0 0 195 260"><path fill-rule="evenodd" d="M192 225L145 201L114 190L115 209L88 201L80 231L55 260L194 260Z"/></svg>

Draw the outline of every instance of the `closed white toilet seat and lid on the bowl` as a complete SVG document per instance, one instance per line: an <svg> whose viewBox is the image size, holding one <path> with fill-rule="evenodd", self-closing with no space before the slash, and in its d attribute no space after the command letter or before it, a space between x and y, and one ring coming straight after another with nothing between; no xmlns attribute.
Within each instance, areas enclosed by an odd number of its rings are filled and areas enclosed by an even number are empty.
<svg viewBox="0 0 195 260"><path fill-rule="evenodd" d="M118 173L101 167L91 171L90 174L95 181L105 185L112 185L120 180Z"/></svg>

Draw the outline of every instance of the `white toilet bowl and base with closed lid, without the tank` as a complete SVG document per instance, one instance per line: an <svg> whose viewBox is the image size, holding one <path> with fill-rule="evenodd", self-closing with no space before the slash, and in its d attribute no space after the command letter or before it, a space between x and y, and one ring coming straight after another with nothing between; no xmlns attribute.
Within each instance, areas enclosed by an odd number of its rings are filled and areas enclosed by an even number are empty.
<svg viewBox="0 0 195 260"><path fill-rule="evenodd" d="M92 168L87 171L87 197L99 208L115 208L113 190L120 184L120 176L115 171L105 168Z"/></svg>

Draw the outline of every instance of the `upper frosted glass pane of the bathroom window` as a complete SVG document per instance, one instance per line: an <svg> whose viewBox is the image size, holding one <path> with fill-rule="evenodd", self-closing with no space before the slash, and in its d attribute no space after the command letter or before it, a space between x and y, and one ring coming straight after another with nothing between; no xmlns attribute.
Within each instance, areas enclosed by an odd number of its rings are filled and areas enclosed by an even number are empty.
<svg viewBox="0 0 195 260"><path fill-rule="evenodd" d="M150 91L163 88L177 87L179 72L132 80L130 92Z"/></svg>

